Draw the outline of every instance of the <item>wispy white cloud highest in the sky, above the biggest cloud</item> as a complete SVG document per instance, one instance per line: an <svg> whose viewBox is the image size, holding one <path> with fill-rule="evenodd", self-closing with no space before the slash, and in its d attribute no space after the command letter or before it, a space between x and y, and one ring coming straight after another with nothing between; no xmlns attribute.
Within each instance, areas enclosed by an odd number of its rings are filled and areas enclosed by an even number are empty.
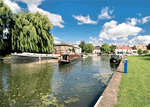
<svg viewBox="0 0 150 107"><path fill-rule="evenodd" d="M115 16L110 16L114 10L109 10L109 7L102 8L101 14L98 15L98 19L111 19ZM110 15L109 15L110 14Z"/></svg>

